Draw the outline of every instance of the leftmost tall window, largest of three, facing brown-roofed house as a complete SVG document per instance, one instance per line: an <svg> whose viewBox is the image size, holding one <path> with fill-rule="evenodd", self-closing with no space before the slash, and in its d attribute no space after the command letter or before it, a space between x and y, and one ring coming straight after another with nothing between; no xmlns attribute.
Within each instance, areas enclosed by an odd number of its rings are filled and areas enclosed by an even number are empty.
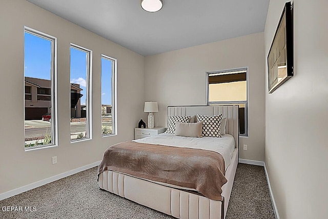
<svg viewBox="0 0 328 219"><path fill-rule="evenodd" d="M57 144L56 38L25 27L25 149ZM39 95L39 90L47 91ZM52 115L52 116L51 116Z"/></svg>

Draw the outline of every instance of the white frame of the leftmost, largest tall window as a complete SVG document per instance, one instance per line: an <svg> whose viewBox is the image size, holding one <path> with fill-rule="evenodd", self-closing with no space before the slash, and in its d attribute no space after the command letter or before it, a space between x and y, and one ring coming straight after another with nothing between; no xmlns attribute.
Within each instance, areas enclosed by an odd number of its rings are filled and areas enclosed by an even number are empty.
<svg viewBox="0 0 328 219"><path fill-rule="evenodd" d="M43 33L41 31L29 28L24 26L24 35L25 33L29 33L35 35L40 38L44 38L51 42L51 72L50 72L50 81L51 81L51 144L49 145L42 145L42 146L33 146L33 147L25 147L25 140L24 140L24 148L25 151L32 151L41 148L48 148L48 147L56 147L58 146L58 98L57 98L57 37L49 35L47 33ZM25 40L25 36L24 36ZM25 58L25 52L24 52ZM24 62L25 66L25 62ZM25 69L25 68L24 68ZM25 78L25 71L24 71L24 78ZM25 88L25 79L24 79L24 88ZM24 121L25 121L25 90L24 90ZM25 128L24 128L24 138L25 138Z"/></svg>

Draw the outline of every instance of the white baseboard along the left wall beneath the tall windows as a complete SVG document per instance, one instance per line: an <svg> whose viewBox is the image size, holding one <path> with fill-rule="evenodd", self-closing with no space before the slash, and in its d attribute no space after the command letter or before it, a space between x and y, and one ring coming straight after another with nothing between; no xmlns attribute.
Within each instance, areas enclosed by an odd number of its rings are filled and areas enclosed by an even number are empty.
<svg viewBox="0 0 328 219"><path fill-rule="evenodd" d="M78 173L78 172L90 169L92 167L98 166L100 164L100 162L101 161L97 161L97 162L94 162L92 164L89 164L89 165L86 165L86 166L83 166L83 167L79 167L79 168L76 168L74 170L67 171L65 173L60 173L58 175L51 176L49 178L45 178L44 180L40 180L38 182L31 183L29 185L22 186L22 187L19 187L17 189L13 189L13 190L10 190L8 192L2 193L2 194L0 194L0 201L4 200L5 198L9 198L11 196L17 195L19 193L26 192L28 190L31 190L31 189L46 185L46 184L54 182L56 180L60 180L61 178L64 178L66 176L73 175L75 173Z"/></svg>

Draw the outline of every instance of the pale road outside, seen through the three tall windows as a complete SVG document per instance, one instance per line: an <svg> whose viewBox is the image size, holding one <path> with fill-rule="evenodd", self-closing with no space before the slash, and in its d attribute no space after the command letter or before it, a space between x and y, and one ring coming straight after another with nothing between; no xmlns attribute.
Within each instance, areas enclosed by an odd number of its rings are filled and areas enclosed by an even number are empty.
<svg viewBox="0 0 328 219"><path fill-rule="evenodd" d="M50 123L42 120L25 121L25 138L44 136L47 129L50 129ZM103 125L112 126L112 122L103 122ZM86 131L85 122L71 123L71 133L80 133Z"/></svg>

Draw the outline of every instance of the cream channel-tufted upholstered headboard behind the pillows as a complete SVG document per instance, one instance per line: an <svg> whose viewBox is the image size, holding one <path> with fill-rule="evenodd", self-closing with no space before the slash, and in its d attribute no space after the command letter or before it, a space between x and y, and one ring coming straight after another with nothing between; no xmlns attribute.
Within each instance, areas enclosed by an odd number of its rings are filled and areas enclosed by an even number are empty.
<svg viewBox="0 0 328 219"><path fill-rule="evenodd" d="M169 116L187 115L217 115L223 114L227 117L226 132L235 138L235 147L239 148L239 120L238 105L227 106L168 106Z"/></svg>

